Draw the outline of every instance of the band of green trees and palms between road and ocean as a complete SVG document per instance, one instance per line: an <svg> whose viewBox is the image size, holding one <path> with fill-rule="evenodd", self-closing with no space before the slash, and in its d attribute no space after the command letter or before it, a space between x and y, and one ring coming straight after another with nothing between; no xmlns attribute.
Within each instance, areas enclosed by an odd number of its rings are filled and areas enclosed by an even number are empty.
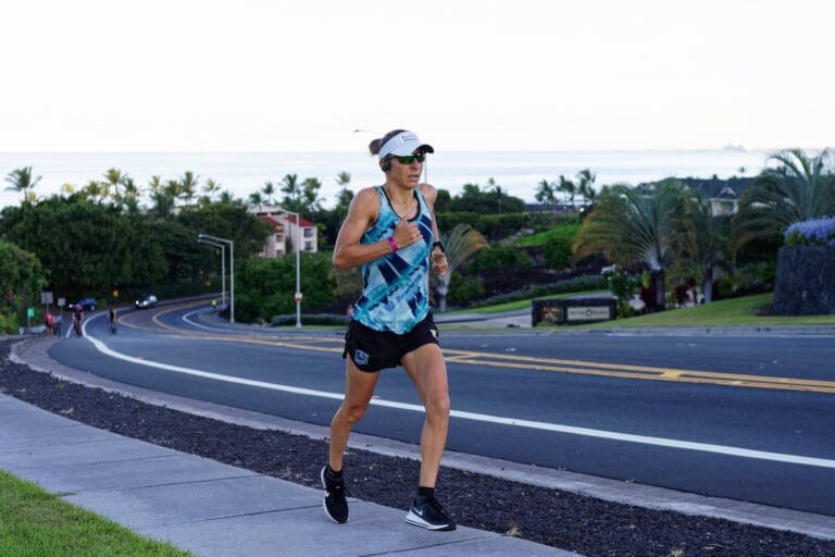
<svg viewBox="0 0 835 557"><path fill-rule="evenodd" d="M775 165L756 178L733 218L716 214L709 199L676 180L644 189L624 184L595 189L596 177L588 169L575 180L560 176L540 182L537 199L543 207L566 201L582 207L562 214L527 211L522 199L493 180L485 186L466 184L456 196L439 189L436 215L443 236L452 247L450 268L468 281L461 284L465 287L461 292L471 293L459 294L457 299L472 301L477 295L465 262L481 249L493 246L507 255L491 259L513 261L511 267L528 265L527 256L512 238L522 231L543 232L569 224L548 236L547 242L559 246L541 248L551 265L568 260L563 251L571 244L574 261L603 253L628 273L645 270L660 308L666 301L666 286L687 280L698 282L709 301L716 277L732 274L740 257L757 251L752 246L775 252L780 233L788 224L835 214L828 151L814 157L799 150L784 151L775 153L771 162ZM102 180L89 181L82 188L67 185L61 194L46 199L35 194L39 180L32 168L16 169L7 176L9 189L21 194L21 205L0 213L0 276L4 278L0 288L7 304L0 306L0 313L20 314L20 308L11 308L11 300L17 299L20 306L20 293L38 288L68 298L149 286L183 294L201 285L216 288L207 281L217 275L219 255L196 242L198 234L205 233L234 239L236 268L241 270L240 275L236 272L236 282L242 289L251 286L248 294L240 290L242 311L252 319L267 320L271 312L292 308L288 305L291 296L278 295L278 290L292 292L284 274L295 273L287 261L250 261L261 251L270 231L248 209L273 205L300 213L320 228L325 253L303 255L302 273L309 274L306 284L321 284L327 295L309 296L308 290L306 308L327 307L359 287L356 274L329 271L326 253L353 198L348 173L336 177L340 189L333 209L323 208L317 178L299 180L296 174L264 183L247 199L236 199L215 181L201 182L188 171L176 180L153 176L146 187L138 187L129 175L108 169ZM577 197L581 199L575 203ZM513 256L512 251L521 255ZM28 261L28 256L37 263ZM24 284L26 273L32 280ZM12 281L12 276L17 278ZM451 278L450 272L434 284L441 305L450 287L456 287Z"/></svg>

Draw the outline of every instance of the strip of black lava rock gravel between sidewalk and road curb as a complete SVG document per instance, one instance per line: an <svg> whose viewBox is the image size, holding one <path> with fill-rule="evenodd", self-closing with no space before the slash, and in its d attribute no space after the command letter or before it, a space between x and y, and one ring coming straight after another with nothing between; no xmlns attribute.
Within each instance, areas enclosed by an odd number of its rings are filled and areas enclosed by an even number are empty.
<svg viewBox="0 0 835 557"><path fill-rule="evenodd" d="M262 431L148 405L36 372L0 341L0 392L82 423L320 487L323 441ZM349 449L348 493L406 509L418 462ZM593 556L824 557L835 542L736 522L650 510L443 468L438 498L460 524Z"/></svg>

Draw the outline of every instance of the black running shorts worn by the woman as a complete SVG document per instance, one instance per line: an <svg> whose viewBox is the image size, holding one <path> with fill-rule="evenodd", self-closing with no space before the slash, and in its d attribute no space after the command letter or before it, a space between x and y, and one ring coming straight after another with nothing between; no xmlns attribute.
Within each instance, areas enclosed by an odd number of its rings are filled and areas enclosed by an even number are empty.
<svg viewBox="0 0 835 557"><path fill-rule="evenodd" d="M376 331L359 321L351 320L345 334L342 358L351 361L362 371L374 372L400 366L400 358L425 344L438 344L438 327L427 313L414 329L399 335Z"/></svg>

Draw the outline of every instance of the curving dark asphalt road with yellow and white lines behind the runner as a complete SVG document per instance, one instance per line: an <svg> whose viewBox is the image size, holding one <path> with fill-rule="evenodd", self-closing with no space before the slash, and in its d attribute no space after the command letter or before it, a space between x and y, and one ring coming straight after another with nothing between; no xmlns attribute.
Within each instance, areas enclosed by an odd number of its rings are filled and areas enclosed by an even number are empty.
<svg viewBox="0 0 835 557"><path fill-rule="evenodd" d="M63 338L50 355L124 383L329 422L344 387L340 332L216 331L199 310L124 312L116 335L96 317L95 344ZM831 337L440 337L452 450L835 516ZM411 383L383 374L357 431L416 444Z"/></svg>

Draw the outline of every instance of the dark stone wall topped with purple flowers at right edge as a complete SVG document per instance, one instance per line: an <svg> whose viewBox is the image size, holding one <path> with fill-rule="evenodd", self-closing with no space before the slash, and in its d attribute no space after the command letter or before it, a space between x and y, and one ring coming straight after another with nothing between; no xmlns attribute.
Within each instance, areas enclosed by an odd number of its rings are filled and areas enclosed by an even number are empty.
<svg viewBox="0 0 835 557"><path fill-rule="evenodd" d="M835 313L835 248L780 248L777 276L774 281L774 313Z"/></svg>

